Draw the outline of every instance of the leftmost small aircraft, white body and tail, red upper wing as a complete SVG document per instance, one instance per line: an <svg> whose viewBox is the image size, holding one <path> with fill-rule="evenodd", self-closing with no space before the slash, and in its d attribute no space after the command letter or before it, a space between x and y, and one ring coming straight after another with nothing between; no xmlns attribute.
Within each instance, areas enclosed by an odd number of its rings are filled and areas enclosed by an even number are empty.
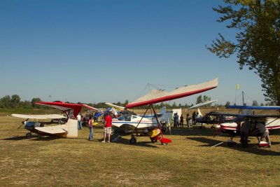
<svg viewBox="0 0 280 187"><path fill-rule="evenodd" d="M72 104L64 102L36 102L35 104L50 106L55 109L59 109L66 116L50 114L50 115L24 115L24 114L12 114L17 118L26 118L22 125L25 125L25 129L29 130L25 137L31 138L32 134L37 136L55 136L55 137L66 137L66 138L77 138L78 137L78 120L76 117L80 113L82 107L89 110L99 111L98 109L88 106L86 104ZM65 124L59 124L54 126L44 126L44 124L50 124L50 122L40 123L38 120L54 120L66 118ZM33 121L29 120L33 119ZM37 120L37 121L36 121ZM20 127L18 127L20 128Z"/></svg>

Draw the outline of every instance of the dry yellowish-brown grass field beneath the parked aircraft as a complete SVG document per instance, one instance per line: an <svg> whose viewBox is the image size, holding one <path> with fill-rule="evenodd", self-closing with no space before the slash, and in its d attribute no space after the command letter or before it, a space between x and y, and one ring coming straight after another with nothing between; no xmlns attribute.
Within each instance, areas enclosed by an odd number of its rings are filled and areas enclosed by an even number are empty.
<svg viewBox="0 0 280 187"><path fill-rule="evenodd" d="M203 112L203 111L202 111ZM7 116L8 115L8 116ZM186 116L186 115L185 115ZM225 135L213 138L207 125L172 128L162 146L130 136L102 144L102 125L79 131L78 139L25 139L21 119L0 111L0 186L279 186L280 136L271 135L271 148L229 148ZM239 141L239 138L235 139Z"/></svg>

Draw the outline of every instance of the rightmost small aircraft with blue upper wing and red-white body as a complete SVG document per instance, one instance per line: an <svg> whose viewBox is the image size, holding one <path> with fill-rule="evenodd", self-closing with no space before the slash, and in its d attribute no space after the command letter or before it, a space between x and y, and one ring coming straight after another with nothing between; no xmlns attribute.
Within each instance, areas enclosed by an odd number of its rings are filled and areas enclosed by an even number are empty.
<svg viewBox="0 0 280 187"><path fill-rule="evenodd" d="M280 106L228 106L228 109L280 109ZM249 137L258 138L259 147L271 146L269 139L269 132L271 130L280 129L280 115L253 115L244 113L213 113L219 116L235 116L235 120L230 123L221 123L216 126L217 130L214 134L218 134L219 131L229 134L230 139L226 141L228 146L234 146L237 144L233 141L233 137L241 135L241 128L244 125L244 121L251 123L252 127L248 130ZM266 139L266 141L263 140ZM246 140L247 141L247 140ZM242 145L243 146L243 145Z"/></svg>

